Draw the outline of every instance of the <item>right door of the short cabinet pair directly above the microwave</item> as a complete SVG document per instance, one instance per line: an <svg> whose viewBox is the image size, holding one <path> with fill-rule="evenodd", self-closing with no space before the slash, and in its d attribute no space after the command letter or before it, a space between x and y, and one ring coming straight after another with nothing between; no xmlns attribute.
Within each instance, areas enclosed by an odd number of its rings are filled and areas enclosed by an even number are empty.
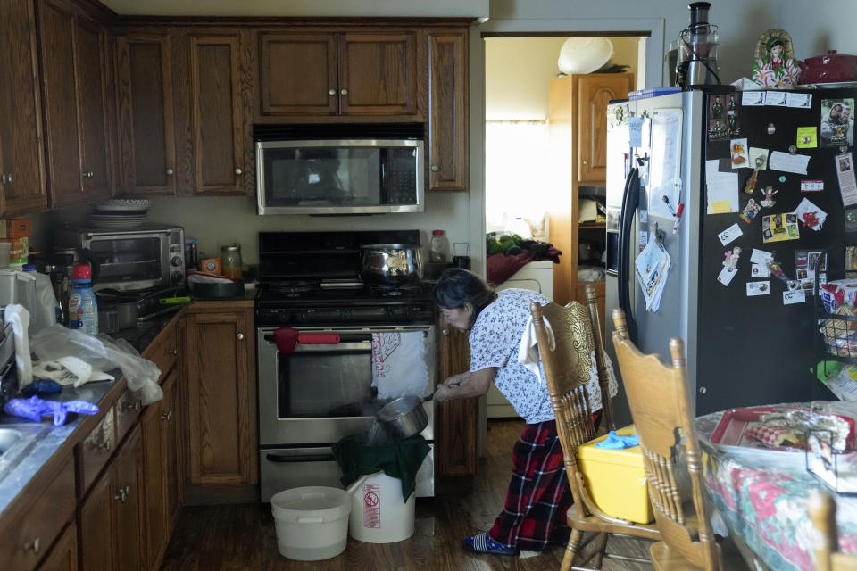
<svg viewBox="0 0 857 571"><path fill-rule="evenodd" d="M340 112L415 114L419 70L415 32L340 34Z"/></svg>

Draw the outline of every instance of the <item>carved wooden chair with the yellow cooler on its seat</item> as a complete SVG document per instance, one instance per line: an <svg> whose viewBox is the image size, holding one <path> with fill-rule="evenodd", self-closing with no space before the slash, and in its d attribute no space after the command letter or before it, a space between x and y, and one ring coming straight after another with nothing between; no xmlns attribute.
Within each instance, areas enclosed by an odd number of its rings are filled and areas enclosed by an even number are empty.
<svg viewBox="0 0 857 571"><path fill-rule="evenodd" d="M592 421L592 410L585 386L589 381L589 369L592 368L594 350L603 401L602 421L605 423L604 426L612 426L608 377L604 366L603 345L600 343L601 327L594 291L587 290L587 300L589 310L578 302L570 302L565 307L556 303L548 303L542 307L537 302L530 306L538 351L545 366L547 388L551 395L557 432L562 443L565 471L571 495L574 498L574 505L566 514L566 521L571 527L571 536L562 557L562 571L600 569L604 557L647 562L646 559L607 553L606 547L610 534L635 535L650 540L661 537L655 525L635 524L604 514L587 492L584 476L578 470L578 446L595 438L595 425ZM550 349L545 319L553 330L553 351ZM584 532L594 532L590 541L597 537L600 542L600 545L596 544L595 553L587 559L578 557L580 551L586 546L581 542ZM581 560L576 561L576 559ZM593 561L595 567L575 565L575 563L590 564Z"/></svg>

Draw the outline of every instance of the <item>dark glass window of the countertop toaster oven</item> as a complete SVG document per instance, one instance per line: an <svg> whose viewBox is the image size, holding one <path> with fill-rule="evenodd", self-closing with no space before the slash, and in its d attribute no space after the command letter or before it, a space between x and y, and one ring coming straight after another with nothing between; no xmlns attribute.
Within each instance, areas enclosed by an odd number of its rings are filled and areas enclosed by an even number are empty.
<svg viewBox="0 0 857 571"><path fill-rule="evenodd" d="M160 237L93 239L89 250L98 261L98 282L161 279Z"/></svg>

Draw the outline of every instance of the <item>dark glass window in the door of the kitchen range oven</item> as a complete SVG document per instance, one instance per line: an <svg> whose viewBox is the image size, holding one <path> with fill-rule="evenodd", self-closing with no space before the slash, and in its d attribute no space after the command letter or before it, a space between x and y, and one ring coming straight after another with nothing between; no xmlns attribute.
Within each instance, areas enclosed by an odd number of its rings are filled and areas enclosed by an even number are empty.
<svg viewBox="0 0 857 571"><path fill-rule="evenodd" d="M373 416L370 351L278 353L279 418Z"/></svg>

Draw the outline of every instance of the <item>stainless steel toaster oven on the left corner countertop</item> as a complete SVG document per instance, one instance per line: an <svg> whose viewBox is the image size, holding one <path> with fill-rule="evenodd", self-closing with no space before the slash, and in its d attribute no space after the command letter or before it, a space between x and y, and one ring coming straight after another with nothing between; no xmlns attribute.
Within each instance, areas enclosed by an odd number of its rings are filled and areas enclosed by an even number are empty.
<svg viewBox="0 0 857 571"><path fill-rule="evenodd" d="M93 289L141 290L185 281L185 231L144 224L137 228L62 228L54 251L85 253L93 265Z"/></svg>

